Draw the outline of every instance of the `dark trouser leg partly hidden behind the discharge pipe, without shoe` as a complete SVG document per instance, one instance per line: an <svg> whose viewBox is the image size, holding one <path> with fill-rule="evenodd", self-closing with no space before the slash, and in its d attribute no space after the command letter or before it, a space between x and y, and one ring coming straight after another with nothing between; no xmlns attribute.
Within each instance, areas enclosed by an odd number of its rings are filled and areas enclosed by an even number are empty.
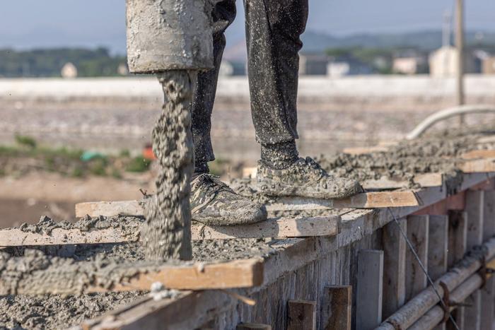
<svg viewBox="0 0 495 330"><path fill-rule="evenodd" d="M211 111L216 93L216 82L225 48L225 32L235 18L235 0L224 0L214 6L214 65L215 69L198 74L192 100L192 141L194 142L194 172L208 172L207 162L215 156L211 146Z"/></svg>

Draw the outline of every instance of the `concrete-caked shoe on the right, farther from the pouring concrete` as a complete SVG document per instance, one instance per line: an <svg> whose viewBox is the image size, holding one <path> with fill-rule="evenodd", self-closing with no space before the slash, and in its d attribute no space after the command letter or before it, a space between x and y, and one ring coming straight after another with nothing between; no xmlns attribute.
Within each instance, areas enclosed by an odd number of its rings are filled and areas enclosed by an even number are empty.
<svg viewBox="0 0 495 330"><path fill-rule="evenodd" d="M260 161L257 182L262 194L268 196L343 199L363 191L354 180L328 175L309 157L299 158L284 170L274 170Z"/></svg>

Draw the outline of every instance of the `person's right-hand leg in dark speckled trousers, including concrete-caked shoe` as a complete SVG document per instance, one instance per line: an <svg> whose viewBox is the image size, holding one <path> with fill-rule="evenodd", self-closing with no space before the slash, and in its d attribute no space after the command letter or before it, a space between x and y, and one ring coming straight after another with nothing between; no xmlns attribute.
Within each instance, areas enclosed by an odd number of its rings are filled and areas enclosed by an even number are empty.
<svg viewBox="0 0 495 330"><path fill-rule="evenodd" d="M327 174L296 148L298 52L308 0L245 0L252 120L261 161L257 180L265 194L342 198L357 182Z"/></svg>

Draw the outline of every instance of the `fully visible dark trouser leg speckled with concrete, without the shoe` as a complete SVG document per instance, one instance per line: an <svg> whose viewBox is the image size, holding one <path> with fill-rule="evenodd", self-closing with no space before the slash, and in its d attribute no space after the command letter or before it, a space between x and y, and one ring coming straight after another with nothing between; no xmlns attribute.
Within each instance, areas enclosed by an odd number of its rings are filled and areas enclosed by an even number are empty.
<svg viewBox="0 0 495 330"><path fill-rule="evenodd" d="M262 161L284 167L298 158L298 51L308 0L245 0L244 4L252 121L262 145Z"/></svg>

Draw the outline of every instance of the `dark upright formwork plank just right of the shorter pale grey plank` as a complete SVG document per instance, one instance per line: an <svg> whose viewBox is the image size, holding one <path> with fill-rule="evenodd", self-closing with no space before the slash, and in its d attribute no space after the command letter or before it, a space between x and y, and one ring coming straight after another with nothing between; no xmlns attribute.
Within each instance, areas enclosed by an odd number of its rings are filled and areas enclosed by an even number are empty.
<svg viewBox="0 0 495 330"><path fill-rule="evenodd" d="M401 218L383 227L383 318L387 318L404 305L406 297L406 240L407 220ZM400 228L399 228L400 226Z"/></svg>

